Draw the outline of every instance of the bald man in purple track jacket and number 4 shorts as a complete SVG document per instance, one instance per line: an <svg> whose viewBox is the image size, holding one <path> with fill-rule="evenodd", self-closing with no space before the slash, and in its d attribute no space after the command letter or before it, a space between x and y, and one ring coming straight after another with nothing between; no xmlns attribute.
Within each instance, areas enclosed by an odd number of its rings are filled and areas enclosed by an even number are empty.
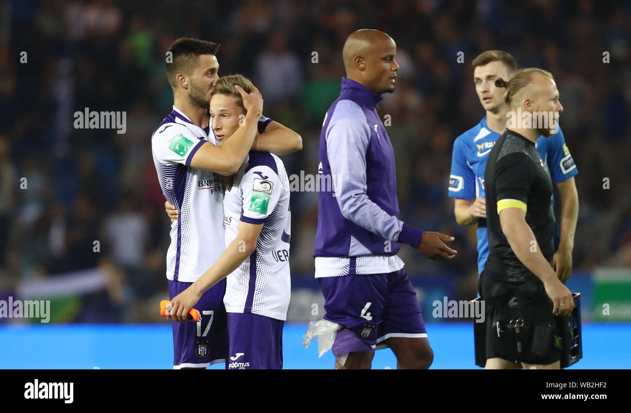
<svg viewBox="0 0 631 413"><path fill-rule="evenodd" d="M382 93L394 91L395 55L386 33L351 33L341 93L322 125L318 178L329 177L333 188L320 185L315 277L325 299L321 325L336 330L339 369L369 369L375 349L384 347L398 368L428 368L433 352L423 316L396 253L406 243L432 259L456 255L444 242L451 236L399 220L394 151L375 109Z"/></svg>

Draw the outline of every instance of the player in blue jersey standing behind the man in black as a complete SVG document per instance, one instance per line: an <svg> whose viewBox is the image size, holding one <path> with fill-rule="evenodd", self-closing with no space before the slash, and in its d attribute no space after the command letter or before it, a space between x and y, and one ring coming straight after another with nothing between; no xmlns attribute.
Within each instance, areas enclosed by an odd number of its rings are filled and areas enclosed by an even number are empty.
<svg viewBox="0 0 631 413"><path fill-rule="evenodd" d="M509 107L504 101L505 88L495 86L497 79L508 81L517 70L517 62L503 50L487 50L478 55L471 66L476 93L487 115L468 131L457 137L451 161L449 196L454 198L457 223L478 224L478 274L488 257L487 212L484 170L488 153L506 129ZM539 137L536 149L548 164L551 177L561 196L561 228L555 231L553 267L565 282L572 272L572 248L579 210L579 197L574 183L578 172L560 128L550 138Z"/></svg>

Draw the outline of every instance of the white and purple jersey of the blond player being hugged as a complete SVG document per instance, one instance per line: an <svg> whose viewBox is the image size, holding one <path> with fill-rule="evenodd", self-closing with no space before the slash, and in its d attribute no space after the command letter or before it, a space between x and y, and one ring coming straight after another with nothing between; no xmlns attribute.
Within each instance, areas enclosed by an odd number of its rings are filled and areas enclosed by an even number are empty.
<svg viewBox="0 0 631 413"><path fill-rule="evenodd" d="M290 298L289 179L278 156L251 152L223 201L225 244L239 223L263 224L256 250L227 277L223 303L228 313L286 320Z"/></svg>

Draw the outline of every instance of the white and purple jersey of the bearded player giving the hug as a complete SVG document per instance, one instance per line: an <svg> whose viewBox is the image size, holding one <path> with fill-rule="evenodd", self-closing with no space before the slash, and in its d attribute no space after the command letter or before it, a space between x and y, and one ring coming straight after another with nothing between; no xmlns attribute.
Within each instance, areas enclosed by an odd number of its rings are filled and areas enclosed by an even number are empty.
<svg viewBox="0 0 631 413"><path fill-rule="evenodd" d="M191 167L193 154L207 141L216 145L215 134L192 124L175 106L151 137L160 187L180 211L171 224L167 252L167 278L172 281L196 281L225 250L219 175Z"/></svg>

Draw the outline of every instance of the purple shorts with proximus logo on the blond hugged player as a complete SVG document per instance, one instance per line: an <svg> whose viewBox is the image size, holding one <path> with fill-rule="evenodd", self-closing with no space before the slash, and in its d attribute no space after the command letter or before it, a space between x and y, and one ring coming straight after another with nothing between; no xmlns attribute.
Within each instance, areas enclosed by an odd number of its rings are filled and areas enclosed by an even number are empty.
<svg viewBox="0 0 631 413"><path fill-rule="evenodd" d="M249 313L228 313L228 369L283 368L283 320Z"/></svg>

